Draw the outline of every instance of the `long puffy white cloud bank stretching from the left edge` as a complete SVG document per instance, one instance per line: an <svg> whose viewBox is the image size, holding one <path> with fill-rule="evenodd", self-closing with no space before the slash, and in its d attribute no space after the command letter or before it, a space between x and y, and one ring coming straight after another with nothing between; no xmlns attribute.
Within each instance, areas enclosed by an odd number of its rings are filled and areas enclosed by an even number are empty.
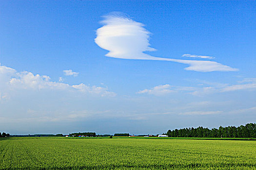
<svg viewBox="0 0 256 170"><path fill-rule="evenodd" d="M61 77L59 79L62 80ZM114 92L108 91L105 87L90 85L69 85L61 82L52 82L50 77L46 75L34 75L28 71L18 72L13 68L0 66L0 98L6 98L3 91L7 93L11 89L54 89L54 90L77 90L82 93L96 94L100 96L115 96Z"/></svg>

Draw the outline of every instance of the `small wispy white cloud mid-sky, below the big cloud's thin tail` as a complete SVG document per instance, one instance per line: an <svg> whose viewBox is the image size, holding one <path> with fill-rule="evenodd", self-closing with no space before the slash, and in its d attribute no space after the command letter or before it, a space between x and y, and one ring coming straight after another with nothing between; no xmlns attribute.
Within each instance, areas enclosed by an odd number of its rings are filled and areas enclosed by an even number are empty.
<svg viewBox="0 0 256 170"><path fill-rule="evenodd" d="M138 94L153 94L156 96L166 95L168 93L174 92L174 90L171 90L171 85L158 85L151 89L144 89L141 91L138 91Z"/></svg>

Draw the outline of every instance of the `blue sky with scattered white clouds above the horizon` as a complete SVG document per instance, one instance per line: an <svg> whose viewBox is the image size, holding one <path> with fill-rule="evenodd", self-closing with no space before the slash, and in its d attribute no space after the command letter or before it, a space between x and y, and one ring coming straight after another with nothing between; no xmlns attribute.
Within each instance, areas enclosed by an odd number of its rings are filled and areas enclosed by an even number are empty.
<svg viewBox="0 0 256 170"><path fill-rule="evenodd" d="M255 122L255 7L1 1L0 130L159 134Z"/></svg>

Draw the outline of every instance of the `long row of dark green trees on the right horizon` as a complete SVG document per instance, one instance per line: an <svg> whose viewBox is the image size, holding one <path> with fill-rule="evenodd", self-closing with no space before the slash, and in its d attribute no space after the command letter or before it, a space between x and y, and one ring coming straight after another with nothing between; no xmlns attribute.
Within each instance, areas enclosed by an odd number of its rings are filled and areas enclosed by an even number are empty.
<svg viewBox="0 0 256 170"><path fill-rule="evenodd" d="M256 123L208 129L203 127L168 130L169 137L256 137Z"/></svg>

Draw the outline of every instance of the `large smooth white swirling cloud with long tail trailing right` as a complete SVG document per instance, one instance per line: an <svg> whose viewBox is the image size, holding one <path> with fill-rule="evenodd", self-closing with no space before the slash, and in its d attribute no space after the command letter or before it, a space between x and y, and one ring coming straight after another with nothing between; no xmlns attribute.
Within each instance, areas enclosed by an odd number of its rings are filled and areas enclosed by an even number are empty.
<svg viewBox="0 0 256 170"><path fill-rule="evenodd" d="M109 51L106 54L108 57L173 61L189 65L185 68L186 70L200 72L238 70L214 61L180 60L151 56L144 51L156 51L156 49L150 47L151 33L144 28L142 23L116 15L105 16L101 23L103 26L97 30L95 42L100 48Z"/></svg>

